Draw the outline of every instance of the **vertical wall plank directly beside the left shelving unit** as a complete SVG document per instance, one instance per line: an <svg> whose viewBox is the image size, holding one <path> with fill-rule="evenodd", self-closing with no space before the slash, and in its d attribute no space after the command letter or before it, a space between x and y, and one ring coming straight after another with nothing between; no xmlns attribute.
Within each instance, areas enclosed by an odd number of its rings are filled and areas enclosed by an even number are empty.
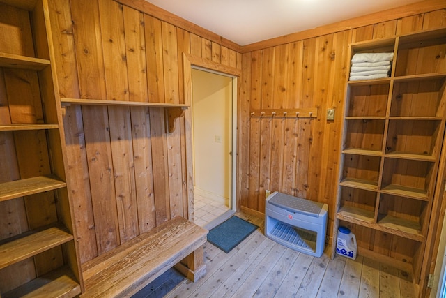
<svg viewBox="0 0 446 298"><path fill-rule="evenodd" d="M75 40L72 29L72 17L68 0L49 1L49 16L52 20L52 33L55 44L56 75L61 97L79 98L79 82L76 68ZM59 33L60 32L60 33ZM91 260L98 255L95 235L93 207L89 184L89 172L86 161L86 144L82 110L79 106L67 107L63 110L63 127L66 137L66 167L68 175L68 191L71 200L76 202L74 221L77 230L80 262Z"/></svg>

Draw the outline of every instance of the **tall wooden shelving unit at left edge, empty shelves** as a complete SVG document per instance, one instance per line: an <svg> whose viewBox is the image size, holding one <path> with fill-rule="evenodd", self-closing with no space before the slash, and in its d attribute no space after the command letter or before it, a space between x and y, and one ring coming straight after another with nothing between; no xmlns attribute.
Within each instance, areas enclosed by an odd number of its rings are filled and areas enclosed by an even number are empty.
<svg viewBox="0 0 446 298"><path fill-rule="evenodd" d="M75 297L82 278L47 0L0 0L0 11L0 297Z"/></svg>

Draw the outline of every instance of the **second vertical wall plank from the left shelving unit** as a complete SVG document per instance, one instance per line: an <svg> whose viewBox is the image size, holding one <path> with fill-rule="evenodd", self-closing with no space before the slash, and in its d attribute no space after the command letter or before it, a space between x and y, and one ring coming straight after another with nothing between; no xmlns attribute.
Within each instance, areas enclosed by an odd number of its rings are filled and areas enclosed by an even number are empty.
<svg viewBox="0 0 446 298"><path fill-rule="evenodd" d="M71 1L75 52L81 98L105 99L105 71L102 54L98 1ZM85 10L85 11L84 11ZM98 254L119 243L118 214L114 190L112 149L107 107L82 107L86 156Z"/></svg>

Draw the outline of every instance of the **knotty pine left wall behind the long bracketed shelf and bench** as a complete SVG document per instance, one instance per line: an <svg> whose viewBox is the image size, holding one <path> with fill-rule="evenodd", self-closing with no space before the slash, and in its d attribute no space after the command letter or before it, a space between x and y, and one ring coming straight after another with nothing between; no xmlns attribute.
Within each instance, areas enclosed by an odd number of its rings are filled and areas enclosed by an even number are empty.
<svg viewBox="0 0 446 298"><path fill-rule="evenodd" d="M61 98L184 103L183 52L240 68L241 54L112 0L51 0ZM159 107L63 109L81 262L189 216L185 121Z"/></svg>

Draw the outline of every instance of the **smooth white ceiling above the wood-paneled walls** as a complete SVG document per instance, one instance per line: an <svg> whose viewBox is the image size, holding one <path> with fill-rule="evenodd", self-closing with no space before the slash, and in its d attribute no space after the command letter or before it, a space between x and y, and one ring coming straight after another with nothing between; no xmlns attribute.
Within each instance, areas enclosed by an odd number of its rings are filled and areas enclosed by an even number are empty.
<svg viewBox="0 0 446 298"><path fill-rule="evenodd" d="M248 45L420 0L146 0Z"/></svg>

